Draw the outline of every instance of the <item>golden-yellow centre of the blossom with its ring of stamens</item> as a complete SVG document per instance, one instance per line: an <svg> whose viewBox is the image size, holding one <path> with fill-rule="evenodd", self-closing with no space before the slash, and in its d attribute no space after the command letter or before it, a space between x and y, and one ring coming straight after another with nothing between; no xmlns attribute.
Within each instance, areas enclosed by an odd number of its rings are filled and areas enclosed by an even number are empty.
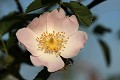
<svg viewBox="0 0 120 80"><path fill-rule="evenodd" d="M65 32L48 33L47 31L41 34L41 37L37 37L38 50L44 51L44 53L55 53L60 55L60 50L65 48L67 44Z"/></svg>

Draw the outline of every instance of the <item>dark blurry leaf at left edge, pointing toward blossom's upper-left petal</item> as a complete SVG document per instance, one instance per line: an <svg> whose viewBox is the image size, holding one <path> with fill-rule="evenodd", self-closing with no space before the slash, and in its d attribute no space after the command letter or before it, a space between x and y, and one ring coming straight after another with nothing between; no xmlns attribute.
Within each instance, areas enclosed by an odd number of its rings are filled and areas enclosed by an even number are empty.
<svg viewBox="0 0 120 80"><path fill-rule="evenodd" d="M32 20L38 16L38 14L19 14L14 12L3 17L0 20L0 38L8 31L24 27L23 24L25 24L27 20Z"/></svg>

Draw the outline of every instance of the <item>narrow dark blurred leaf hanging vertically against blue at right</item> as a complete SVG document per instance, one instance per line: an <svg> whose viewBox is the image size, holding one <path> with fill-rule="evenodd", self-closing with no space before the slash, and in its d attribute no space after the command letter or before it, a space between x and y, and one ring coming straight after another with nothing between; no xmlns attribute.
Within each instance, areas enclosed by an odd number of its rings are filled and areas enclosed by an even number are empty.
<svg viewBox="0 0 120 80"><path fill-rule="evenodd" d="M99 43L100 43L100 45L101 45L101 47L103 49L106 63L109 66L110 63L111 63L111 56L110 56L109 47L107 46L107 44L103 40L99 40Z"/></svg>

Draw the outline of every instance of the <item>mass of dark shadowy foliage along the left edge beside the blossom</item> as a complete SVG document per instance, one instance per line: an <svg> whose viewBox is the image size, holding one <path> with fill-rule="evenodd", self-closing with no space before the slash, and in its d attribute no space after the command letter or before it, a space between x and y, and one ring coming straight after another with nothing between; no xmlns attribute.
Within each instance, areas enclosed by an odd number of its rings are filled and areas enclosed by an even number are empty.
<svg viewBox="0 0 120 80"><path fill-rule="evenodd" d="M23 54L21 49L18 49L16 31L19 28L25 27L27 22L32 20L34 17L39 16L38 14L23 14L13 12L4 16L0 20L0 40L2 36L9 33L8 40L4 41L4 45L0 42L0 51L4 51L6 56L0 58L0 79L4 78L7 74L12 74L16 78L23 80L19 74L20 64L22 62L31 64L29 60L29 54ZM13 70L15 69L15 70Z"/></svg>

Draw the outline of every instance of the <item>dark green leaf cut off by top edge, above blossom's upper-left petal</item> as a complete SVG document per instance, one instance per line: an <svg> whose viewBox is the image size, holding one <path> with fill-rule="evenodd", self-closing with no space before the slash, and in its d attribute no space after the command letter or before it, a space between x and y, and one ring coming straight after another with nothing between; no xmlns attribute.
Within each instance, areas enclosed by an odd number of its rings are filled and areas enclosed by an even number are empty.
<svg viewBox="0 0 120 80"><path fill-rule="evenodd" d="M60 2L60 0L34 0L26 9L26 13L46 7L54 5L55 3Z"/></svg>

